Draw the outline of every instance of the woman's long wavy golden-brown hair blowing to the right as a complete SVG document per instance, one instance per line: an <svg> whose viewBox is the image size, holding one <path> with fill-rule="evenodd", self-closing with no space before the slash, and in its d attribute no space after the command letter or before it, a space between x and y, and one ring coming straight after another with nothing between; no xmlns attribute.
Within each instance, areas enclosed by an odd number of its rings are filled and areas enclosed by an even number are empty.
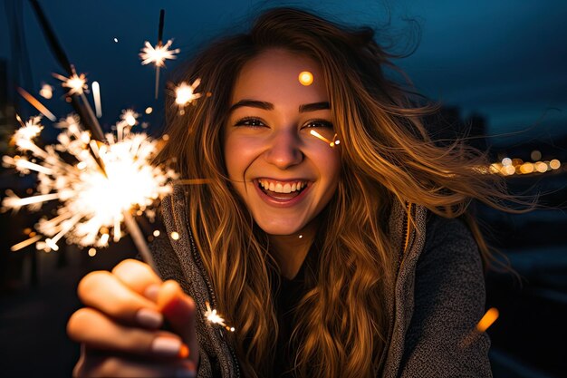
<svg viewBox="0 0 567 378"><path fill-rule="evenodd" d="M223 128L243 65L272 48L311 58L322 67L333 124L341 140L341 178L323 210L317 261L306 277L293 343L297 376L371 377L388 334L384 297L399 251L390 243L392 206L407 202L438 215L466 214L471 199L505 208L502 181L486 174L481 154L463 143L438 147L422 124L420 105L367 27L333 24L293 8L260 15L247 34L227 37L197 53L176 80L201 83L204 96L179 114L167 103L168 144L187 186L188 227L211 278L218 310L235 326L233 344L245 376L269 374L278 324L272 287L277 267L267 235L227 178ZM352 217L356 214L356 217ZM481 251L487 248L477 232Z"/></svg>

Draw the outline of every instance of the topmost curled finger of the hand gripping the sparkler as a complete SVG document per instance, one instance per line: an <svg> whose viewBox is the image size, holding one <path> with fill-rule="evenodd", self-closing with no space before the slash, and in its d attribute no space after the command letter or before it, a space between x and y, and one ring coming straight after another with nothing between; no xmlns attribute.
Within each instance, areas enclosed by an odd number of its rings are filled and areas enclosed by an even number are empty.
<svg viewBox="0 0 567 378"><path fill-rule="evenodd" d="M157 300L162 281L148 264L133 259L124 260L112 269L112 274L139 295L154 302Z"/></svg>

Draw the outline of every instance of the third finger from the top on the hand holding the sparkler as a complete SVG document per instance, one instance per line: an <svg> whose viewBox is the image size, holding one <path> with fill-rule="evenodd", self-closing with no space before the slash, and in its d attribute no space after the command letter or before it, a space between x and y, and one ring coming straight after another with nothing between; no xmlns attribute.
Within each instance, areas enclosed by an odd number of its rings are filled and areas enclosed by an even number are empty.
<svg viewBox="0 0 567 378"><path fill-rule="evenodd" d="M119 325L92 308L82 308L71 316L67 334L89 348L113 353L158 359L183 359L189 355L187 345L177 334Z"/></svg>

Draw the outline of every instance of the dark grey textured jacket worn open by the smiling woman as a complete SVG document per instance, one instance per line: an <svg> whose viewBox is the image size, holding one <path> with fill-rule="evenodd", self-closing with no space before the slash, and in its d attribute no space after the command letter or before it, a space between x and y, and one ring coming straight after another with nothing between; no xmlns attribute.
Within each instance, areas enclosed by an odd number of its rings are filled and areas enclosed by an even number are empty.
<svg viewBox="0 0 567 378"><path fill-rule="evenodd" d="M164 279L177 280L197 305L200 363L197 376L240 377L241 371L223 327L207 324L206 302L215 293L187 228L183 190L162 202L167 235L152 253ZM480 254L466 226L455 219L431 217L421 207L393 209L392 241L399 247L399 272L389 290L388 349L382 354L381 377L491 377L490 342L476 334L485 310L485 281Z"/></svg>

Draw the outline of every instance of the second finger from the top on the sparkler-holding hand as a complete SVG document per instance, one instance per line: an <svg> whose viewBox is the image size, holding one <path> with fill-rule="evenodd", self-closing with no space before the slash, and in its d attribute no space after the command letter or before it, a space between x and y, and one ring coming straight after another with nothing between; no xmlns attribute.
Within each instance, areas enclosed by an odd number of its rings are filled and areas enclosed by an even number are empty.
<svg viewBox="0 0 567 378"><path fill-rule="evenodd" d="M156 303L126 286L118 276L96 271L82 278L78 288L84 305L131 325L159 328L163 324Z"/></svg>

